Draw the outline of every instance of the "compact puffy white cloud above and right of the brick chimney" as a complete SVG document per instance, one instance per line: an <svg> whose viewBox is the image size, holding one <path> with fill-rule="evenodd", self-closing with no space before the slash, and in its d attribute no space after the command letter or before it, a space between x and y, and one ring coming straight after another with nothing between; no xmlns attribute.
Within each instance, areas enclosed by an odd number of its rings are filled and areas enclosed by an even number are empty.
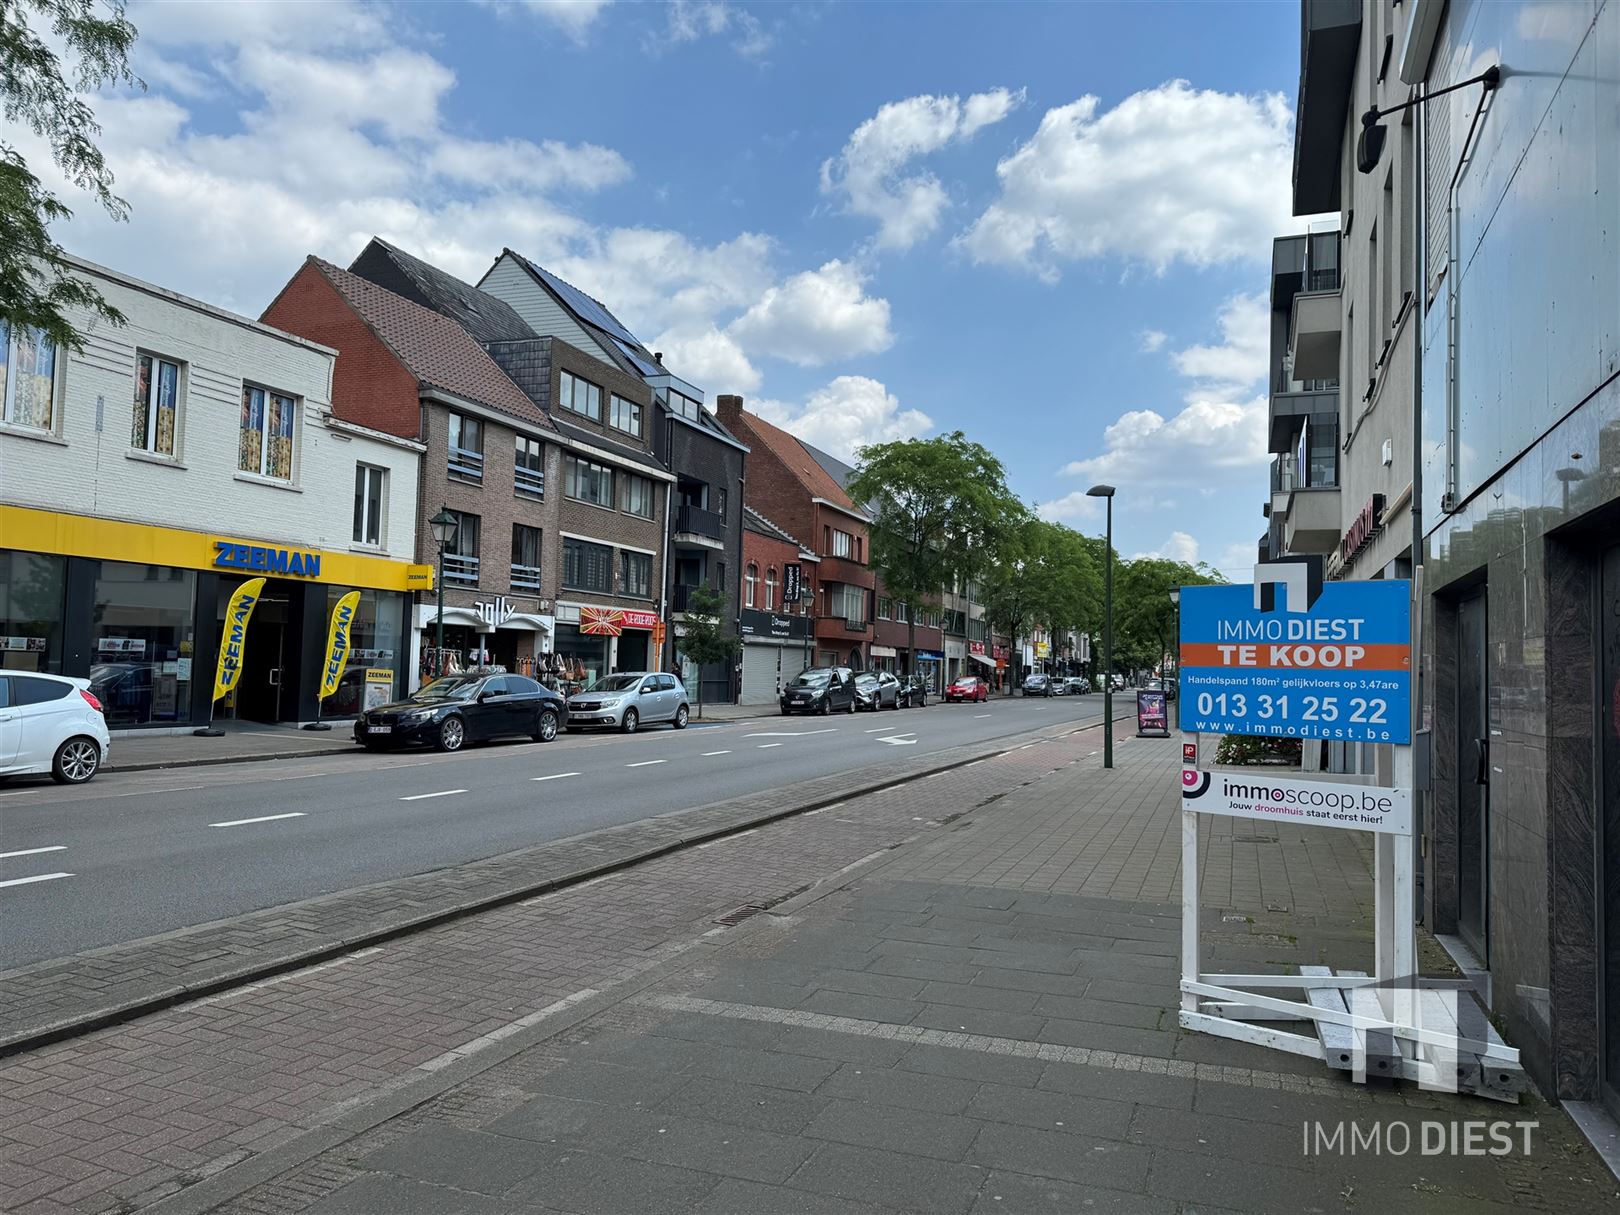
<svg viewBox="0 0 1620 1215"><path fill-rule="evenodd" d="M862 274L836 259L766 290L731 334L750 350L800 366L873 355L894 343L889 301L867 295Z"/></svg>

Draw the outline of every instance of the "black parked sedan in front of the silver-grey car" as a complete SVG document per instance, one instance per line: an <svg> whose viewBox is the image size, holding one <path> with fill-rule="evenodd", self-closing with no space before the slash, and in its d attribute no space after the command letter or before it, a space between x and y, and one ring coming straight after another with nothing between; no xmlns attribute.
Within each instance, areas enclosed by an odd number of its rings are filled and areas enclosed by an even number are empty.
<svg viewBox="0 0 1620 1215"><path fill-rule="evenodd" d="M355 742L371 750L426 742L458 752L468 742L509 735L551 742L569 721L569 703L526 676L444 676L405 700L355 718Z"/></svg>

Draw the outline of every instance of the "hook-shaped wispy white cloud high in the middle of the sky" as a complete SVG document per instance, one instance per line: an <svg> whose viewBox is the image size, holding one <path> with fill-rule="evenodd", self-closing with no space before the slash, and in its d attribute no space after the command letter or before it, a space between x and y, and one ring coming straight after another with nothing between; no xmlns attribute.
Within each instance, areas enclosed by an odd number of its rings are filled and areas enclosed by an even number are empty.
<svg viewBox="0 0 1620 1215"><path fill-rule="evenodd" d="M878 220L880 246L910 248L940 227L951 199L933 173L902 177L906 165L974 138L1006 118L1022 99L1022 91L990 89L966 102L957 96L889 102L855 128L842 152L821 165L821 193L841 196L850 214Z"/></svg>

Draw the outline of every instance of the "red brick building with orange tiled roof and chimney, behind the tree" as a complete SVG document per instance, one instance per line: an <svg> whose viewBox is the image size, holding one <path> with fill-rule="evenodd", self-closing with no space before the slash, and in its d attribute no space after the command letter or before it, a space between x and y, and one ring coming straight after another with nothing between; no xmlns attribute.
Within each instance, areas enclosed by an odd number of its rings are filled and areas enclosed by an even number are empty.
<svg viewBox="0 0 1620 1215"><path fill-rule="evenodd" d="M799 439L744 411L742 397L718 397L714 403L719 420L750 449L745 505L816 557L813 664L868 667L876 585L867 564L870 515Z"/></svg>

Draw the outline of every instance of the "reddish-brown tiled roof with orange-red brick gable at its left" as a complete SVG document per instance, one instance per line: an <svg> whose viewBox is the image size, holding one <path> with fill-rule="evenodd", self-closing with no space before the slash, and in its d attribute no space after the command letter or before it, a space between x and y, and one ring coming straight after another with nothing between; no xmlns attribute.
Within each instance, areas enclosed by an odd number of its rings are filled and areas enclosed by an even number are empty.
<svg viewBox="0 0 1620 1215"><path fill-rule="evenodd" d="M311 256L313 266L369 326L394 356L429 389L520 418L530 426L551 423L462 326L358 274Z"/></svg>

